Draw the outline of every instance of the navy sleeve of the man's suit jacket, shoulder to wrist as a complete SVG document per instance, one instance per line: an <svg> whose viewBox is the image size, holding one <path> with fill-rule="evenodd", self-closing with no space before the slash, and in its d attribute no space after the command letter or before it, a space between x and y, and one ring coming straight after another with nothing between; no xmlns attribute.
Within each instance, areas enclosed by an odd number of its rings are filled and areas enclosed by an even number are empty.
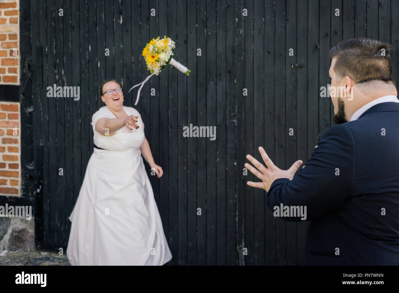
<svg viewBox="0 0 399 293"><path fill-rule="evenodd" d="M306 220L314 220L337 208L351 194L354 184L356 148L348 126L338 124L320 139L305 167L292 180L273 181L267 193L267 204L306 206ZM276 208L277 210L277 208ZM301 217L282 217L301 221Z"/></svg>

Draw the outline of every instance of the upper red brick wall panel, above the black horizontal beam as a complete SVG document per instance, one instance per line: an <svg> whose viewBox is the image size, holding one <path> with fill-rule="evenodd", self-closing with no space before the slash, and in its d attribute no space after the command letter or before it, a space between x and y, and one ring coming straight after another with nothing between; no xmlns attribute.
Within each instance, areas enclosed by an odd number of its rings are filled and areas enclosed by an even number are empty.
<svg viewBox="0 0 399 293"><path fill-rule="evenodd" d="M0 0L0 84L20 84L19 0Z"/></svg>

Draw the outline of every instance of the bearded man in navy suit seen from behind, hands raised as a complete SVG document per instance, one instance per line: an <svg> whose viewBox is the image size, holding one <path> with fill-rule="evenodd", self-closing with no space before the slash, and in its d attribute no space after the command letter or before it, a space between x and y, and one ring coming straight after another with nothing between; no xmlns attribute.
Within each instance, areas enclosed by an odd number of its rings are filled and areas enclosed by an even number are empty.
<svg viewBox="0 0 399 293"><path fill-rule="evenodd" d="M342 41L330 50L334 122L306 163L281 170L259 147L267 168L245 166L275 207L306 206L305 265L399 265L399 100L391 47ZM301 216L286 213L288 221ZM301 209L302 210L302 209Z"/></svg>

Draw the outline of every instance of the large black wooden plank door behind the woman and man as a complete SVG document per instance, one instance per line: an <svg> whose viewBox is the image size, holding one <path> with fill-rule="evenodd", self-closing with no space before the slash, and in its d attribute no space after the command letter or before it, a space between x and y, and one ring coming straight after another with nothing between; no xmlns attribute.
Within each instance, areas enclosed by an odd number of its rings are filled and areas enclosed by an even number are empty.
<svg viewBox="0 0 399 293"><path fill-rule="evenodd" d="M103 106L99 85L120 81L124 105L133 106L136 90L128 89L148 75L142 48L168 35L191 74L164 69L134 107L164 170L154 178L145 163L170 264L302 264L307 222L273 217L265 191L246 184L257 178L243 175L245 156L261 161L263 146L280 168L306 163L333 122L330 98L320 97L330 47L352 37L397 45L398 11L389 0L32 1L32 57L41 46L43 68L42 87L37 75L32 83L35 149L42 149L38 247L65 251L68 216L93 152L91 116ZM397 56L393 63L398 82ZM54 84L80 87L80 99L47 97ZM217 126L216 140L185 138L190 124Z"/></svg>

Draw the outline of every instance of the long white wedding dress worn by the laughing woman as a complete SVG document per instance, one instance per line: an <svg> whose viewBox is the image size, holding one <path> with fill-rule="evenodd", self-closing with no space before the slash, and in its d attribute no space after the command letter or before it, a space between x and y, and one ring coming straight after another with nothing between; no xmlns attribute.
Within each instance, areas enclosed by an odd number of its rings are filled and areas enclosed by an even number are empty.
<svg viewBox="0 0 399 293"><path fill-rule="evenodd" d="M95 131L100 118L116 118L101 107L92 118L94 148L72 210L67 257L71 265L163 265L172 259L140 146L144 127L126 126L113 136Z"/></svg>

